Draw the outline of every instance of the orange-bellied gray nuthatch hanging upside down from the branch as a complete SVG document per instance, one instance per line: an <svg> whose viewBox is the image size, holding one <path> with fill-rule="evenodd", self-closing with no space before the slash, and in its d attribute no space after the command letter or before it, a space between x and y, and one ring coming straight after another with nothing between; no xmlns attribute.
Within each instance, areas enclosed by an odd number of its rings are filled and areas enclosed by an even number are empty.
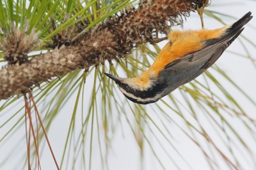
<svg viewBox="0 0 256 170"><path fill-rule="evenodd" d="M252 12L218 29L171 31L169 42L161 49L154 63L134 78L115 77L120 91L134 103L151 104L205 72L227 47L236 40L252 19Z"/></svg>

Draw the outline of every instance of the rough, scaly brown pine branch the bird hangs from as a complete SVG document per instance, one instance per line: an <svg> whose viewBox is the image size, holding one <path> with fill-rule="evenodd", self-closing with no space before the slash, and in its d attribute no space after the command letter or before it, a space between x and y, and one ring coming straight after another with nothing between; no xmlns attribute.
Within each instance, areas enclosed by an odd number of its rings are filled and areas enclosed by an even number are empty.
<svg viewBox="0 0 256 170"><path fill-rule="evenodd" d="M54 49L22 64L0 70L0 100L27 93L31 86L76 68L88 69L106 59L124 57L133 47L150 42L157 33L168 33L204 0L156 0L127 9L119 17L81 36L76 42ZM180 20L177 21L179 17Z"/></svg>

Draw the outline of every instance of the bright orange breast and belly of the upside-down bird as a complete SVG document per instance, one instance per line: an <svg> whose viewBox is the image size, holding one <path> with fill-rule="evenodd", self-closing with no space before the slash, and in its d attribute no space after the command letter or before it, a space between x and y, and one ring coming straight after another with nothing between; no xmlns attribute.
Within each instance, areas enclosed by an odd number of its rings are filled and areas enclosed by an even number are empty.
<svg viewBox="0 0 256 170"><path fill-rule="evenodd" d="M221 35L225 34L227 28L228 26L213 30L172 31L172 33L168 35L170 43L167 43L161 52L159 52L153 65L150 66L147 71L135 77L134 81L141 84L141 86L147 86L150 81L150 75L157 77L158 73L163 70L164 66L168 63L186 54L202 49L205 40L220 38Z"/></svg>

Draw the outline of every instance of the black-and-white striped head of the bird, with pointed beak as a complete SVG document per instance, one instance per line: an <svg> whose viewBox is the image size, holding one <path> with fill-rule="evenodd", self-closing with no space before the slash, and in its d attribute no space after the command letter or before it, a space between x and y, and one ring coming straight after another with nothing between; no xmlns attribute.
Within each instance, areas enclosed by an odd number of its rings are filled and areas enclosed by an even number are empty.
<svg viewBox="0 0 256 170"><path fill-rule="evenodd" d="M134 103L150 104L157 102L159 98L163 97L165 86L163 83L157 81L156 78L150 77L148 82L141 84L136 78L120 78L115 77L109 73L105 73L110 79L116 82L120 91Z"/></svg>

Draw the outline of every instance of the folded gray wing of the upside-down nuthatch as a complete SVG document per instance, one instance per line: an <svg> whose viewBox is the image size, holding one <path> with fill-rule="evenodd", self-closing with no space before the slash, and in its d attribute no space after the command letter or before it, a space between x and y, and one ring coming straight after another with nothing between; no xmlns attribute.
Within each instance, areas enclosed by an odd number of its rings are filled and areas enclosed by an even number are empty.
<svg viewBox="0 0 256 170"><path fill-rule="evenodd" d="M166 86L164 90L165 93L163 94L166 95L170 93L205 72L207 68L212 66L217 59L220 58L221 54L236 40L237 36L239 36L242 31L243 29L240 29L230 36L220 40L216 39L214 43L204 47L204 49L175 59L166 65L164 69L159 72L159 79L157 80L157 83Z"/></svg>

